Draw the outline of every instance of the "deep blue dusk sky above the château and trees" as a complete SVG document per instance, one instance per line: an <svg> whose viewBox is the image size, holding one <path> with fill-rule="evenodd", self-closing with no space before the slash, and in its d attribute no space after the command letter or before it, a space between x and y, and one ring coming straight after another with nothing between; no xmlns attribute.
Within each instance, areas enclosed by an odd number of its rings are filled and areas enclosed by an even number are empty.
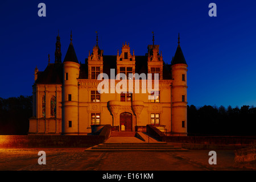
<svg viewBox="0 0 256 182"><path fill-rule="evenodd" d="M46 17L38 4L46 4ZM209 3L217 5L210 17ZM188 64L188 105L256 105L256 1L1 1L0 97L32 95L34 69L54 63L57 31L62 60L73 34L79 61L96 44L117 55L130 43L135 55L160 45L170 64L180 45Z"/></svg>

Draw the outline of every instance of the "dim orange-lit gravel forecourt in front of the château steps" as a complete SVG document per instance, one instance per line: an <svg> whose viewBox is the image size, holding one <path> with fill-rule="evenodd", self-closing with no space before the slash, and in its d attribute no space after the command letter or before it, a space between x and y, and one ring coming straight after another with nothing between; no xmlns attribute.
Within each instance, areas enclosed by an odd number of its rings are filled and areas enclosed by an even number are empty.
<svg viewBox="0 0 256 182"><path fill-rule="evenodd" d="M46 152L46 164L38 164L38 152ZM210 165L207 150L187 152L85 152L85 148L0 149L0 171L242 171L234 166L232 150L216 151Z"/></svg>

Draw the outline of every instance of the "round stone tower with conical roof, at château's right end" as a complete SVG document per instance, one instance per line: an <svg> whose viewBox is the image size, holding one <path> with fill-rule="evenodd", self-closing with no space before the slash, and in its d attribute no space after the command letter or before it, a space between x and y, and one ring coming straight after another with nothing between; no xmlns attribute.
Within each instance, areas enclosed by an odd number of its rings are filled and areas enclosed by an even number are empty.
<svg viewBox="0 0 256 182"><path fill-rule="evenodd" d="M172 135L187 136L187 63L180 47L180 35L178 46L171 62L172 72Z"/></svg>

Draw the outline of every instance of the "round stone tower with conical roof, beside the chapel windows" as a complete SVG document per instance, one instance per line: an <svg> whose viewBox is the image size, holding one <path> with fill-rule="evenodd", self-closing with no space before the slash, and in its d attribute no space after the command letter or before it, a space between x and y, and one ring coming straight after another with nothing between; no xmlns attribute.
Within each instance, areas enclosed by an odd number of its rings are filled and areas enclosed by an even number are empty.
<svg viewBox="0 0 256 182"><path fill-rule="evenodd" d="M62 134L79 133L78 117L78 81L80 64L72 43L69 44L63 61L63 95L62 95Z"/></svg>

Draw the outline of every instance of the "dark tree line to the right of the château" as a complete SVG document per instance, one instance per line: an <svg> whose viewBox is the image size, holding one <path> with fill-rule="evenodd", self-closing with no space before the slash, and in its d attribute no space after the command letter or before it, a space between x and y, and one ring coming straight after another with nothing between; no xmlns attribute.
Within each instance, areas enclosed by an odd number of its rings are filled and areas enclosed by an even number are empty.
<svg viewBox="0 0 256 182"><path fill-rule="evenodd" d="M256 107L188 106L188 135L256 136Z"/></svg>

